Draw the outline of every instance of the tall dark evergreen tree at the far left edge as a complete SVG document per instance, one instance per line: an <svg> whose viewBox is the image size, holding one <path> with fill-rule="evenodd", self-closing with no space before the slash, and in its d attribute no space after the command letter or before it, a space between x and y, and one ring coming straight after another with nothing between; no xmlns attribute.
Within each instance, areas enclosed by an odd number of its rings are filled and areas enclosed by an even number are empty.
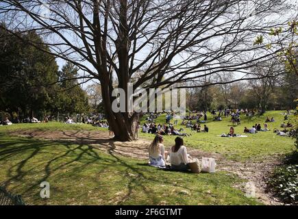
<svg viewBox="0 0 298 219"><path fill-rule="evenodd" d="M23 34L22 38L40 42L40 47L49 51L34 32ZM40 116L42 110L51 108L53 92L57 86L50 86L58 80L58 65L55 57L44 53L30 44L21 42L1 30L0 35L0 107L9 112L22 112L23 116Z"/></svg>

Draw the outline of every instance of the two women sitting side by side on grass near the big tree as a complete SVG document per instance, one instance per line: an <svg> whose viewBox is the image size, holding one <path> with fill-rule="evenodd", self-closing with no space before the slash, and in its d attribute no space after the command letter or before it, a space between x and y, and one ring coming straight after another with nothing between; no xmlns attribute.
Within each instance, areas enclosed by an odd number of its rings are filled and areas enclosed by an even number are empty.
<svg viewBox="0 0 298 219"><path fill-rule="evenodd" d="M189 155L186 146L184 146L183 138L175 138L175 145L172 146L170 153L164 150L163 142L164 138L158 134L150 144L149 165L164 167L166 166L166 160L168 160L172 170L186 171L190 169L188 166Z"/></svg>

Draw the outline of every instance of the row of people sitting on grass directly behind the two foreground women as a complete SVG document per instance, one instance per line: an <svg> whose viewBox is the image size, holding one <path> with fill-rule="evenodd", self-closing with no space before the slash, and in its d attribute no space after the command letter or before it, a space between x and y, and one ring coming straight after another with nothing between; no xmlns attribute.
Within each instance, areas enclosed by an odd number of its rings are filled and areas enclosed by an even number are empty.
<svg viewBox="0 0 298 219"><path fill-rule="evenodd" d="M181 131L184 131L184 129L176 130L171 123L169 125L156 125L155 123L144 123L144 125L142 125L143 133L159 134L161 136L191 136L191 134L181 133Z"/></svg>

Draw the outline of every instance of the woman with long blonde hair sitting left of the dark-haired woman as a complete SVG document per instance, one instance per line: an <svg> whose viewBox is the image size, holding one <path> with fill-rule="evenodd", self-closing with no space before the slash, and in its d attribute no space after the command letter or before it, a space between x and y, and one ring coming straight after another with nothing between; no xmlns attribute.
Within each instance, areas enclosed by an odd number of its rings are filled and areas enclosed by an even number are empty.
<svg viewBox="0 0 298 219"><path fill-rule="evenodd" d="M150 166L165 166L165 151L164 151L164 138L159 134L156 135L153 142L149 146L149 160Z"/></svg>

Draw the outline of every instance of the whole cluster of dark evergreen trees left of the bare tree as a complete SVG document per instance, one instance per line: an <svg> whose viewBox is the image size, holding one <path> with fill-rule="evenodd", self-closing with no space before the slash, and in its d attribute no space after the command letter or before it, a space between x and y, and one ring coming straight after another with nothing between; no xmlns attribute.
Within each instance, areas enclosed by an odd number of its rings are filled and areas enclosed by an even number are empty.
<svg viewBox="0 0 298 219"><path fill-rule="evenodd" d="M49 51L34 31L21 38L39 41L40 48ZM86 93L77 86L77 68L66 64L59 73L53 55L26 41L0 31L0 110L12 118L15 113L40 119L61 109L65 113L87 112ZM59 80L63 82L57 83Z"/></svg>

